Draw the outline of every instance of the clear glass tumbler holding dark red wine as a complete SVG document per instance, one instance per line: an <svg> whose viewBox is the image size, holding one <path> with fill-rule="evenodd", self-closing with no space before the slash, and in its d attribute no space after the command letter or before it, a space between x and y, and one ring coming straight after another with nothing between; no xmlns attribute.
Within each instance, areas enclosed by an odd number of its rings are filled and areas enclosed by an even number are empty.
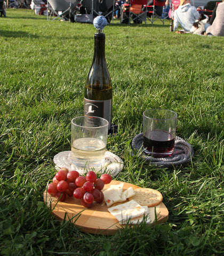
<svg viewBox="0 0 224 256"><path fill-rule="evenodd" d="M167 109L148 109L143 112L143 148L155 158L173 154L177 113Z"/></svg>

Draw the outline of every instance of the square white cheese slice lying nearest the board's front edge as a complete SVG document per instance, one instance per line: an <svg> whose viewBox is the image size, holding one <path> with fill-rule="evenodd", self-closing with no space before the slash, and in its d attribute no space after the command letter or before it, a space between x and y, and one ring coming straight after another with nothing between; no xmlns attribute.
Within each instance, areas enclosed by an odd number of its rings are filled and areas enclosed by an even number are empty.
<svg viewBox="0 0 224 256"><path fill-rule="evenodd" d="M116 206L108 208L108 211L119 221L127 221L143 215L146 211L140 204L131 200L124 204L118 204Z"/></svg>

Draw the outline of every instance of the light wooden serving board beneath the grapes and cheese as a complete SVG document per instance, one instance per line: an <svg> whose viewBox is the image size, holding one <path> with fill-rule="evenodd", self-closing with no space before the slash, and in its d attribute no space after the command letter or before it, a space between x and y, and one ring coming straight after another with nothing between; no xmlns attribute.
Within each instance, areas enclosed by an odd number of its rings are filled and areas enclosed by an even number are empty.
<svg viewBox="0 0 224 256"><path fill-rule="evenodd" d="M110 185L117 185L121 181L112 180L109 184L105 185L103 190L107 189ZM124 183L123 189L126 190L129 187L133 189L139 188L136 185L130 183ZM102 190L102 191L103 191ZM91 233L91 234L103 234L103 235L113 235L119 228L120 225L117 219L107 211L107 206L104 203L95 204L89 209L84 208L81 205L80 200L75 199L73 196L67 197L64 202L57 202L55 197L51 197L50 194L44 191L44 202L50 206L52 213L59 220L63 220L66 214L66 220L71 220L74 222L77 228L81 231ZM157 223L162 223L168 219L169 212L166 206L161 203L156 207L149 208L149 225L155 224L155 208L157 215Z"/></svg>

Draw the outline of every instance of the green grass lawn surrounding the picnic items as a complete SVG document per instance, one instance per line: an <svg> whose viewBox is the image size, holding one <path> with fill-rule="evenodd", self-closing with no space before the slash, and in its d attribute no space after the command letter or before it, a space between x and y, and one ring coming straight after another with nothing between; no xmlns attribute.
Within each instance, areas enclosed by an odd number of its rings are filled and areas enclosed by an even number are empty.
<svg viewBox="0 0 224 256"><path fill-rule="evenodd" d="M224 39L177 35L169 25L105 28L119 126L107 150L125 166L116 179L161 191L169 220L91 235L55 220L43 191L54 155L70 150L71 118L83 115L95 29L7 9L0 19L1 255L223 255ZM195 150L191 163L165 169L131 156L149 108L178 113L177 135Z"/></svg>

